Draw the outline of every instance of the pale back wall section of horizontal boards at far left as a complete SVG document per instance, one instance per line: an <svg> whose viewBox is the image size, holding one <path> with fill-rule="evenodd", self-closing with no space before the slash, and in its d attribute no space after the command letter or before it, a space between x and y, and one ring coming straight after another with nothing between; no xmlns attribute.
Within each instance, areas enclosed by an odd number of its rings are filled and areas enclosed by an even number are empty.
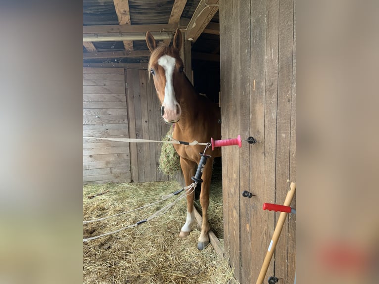
<svg viewBox="0 0 379 284"><path fill-rule="evenodd" d="M129 137L123 68L83 68L83 136ZM83 139L83 183L130 181L128 143Z"/></svg>

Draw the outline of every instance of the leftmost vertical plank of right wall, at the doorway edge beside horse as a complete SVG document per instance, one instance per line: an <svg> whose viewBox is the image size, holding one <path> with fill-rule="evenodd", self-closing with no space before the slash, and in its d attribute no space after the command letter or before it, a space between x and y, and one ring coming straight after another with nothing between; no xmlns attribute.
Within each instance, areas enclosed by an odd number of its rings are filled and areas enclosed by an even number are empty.
<svg viewBox="0 0 379 284"><path fill-rule="evenodd" d="M229 36L231 36L231 25L227 25L227 17L229 17L231 1L221 0L220 2L220 103L221 107L221 136L223 139L229 137L229 112L230 112L230 103L231 96L230 94L230 76L228 76L229 66L231 66L231 57L228 56L231 52L231 44L229 41ZM223 177L223 223L224 223L224 248L225 248L225 257L229 259L229 264L233 266L233 261L230 258L230 235L229 235L229 225L230 219L229 216L229 165L227 151L230 147L222 147L222 177Z"/></svg>

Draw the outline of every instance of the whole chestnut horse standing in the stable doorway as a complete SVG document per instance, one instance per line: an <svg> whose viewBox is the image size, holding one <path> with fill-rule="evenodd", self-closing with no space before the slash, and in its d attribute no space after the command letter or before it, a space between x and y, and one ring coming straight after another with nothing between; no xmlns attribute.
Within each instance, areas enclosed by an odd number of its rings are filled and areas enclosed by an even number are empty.
<svg viewBox="0 0 379 284"><path fill-rule="evenodd" d="M166 123L174 123L173 138L179 141L210 142L211 138L221 139L220 108L206 96L199 95L193 88L184 72L180 50L183 45L183 36L176 30L172 46L164 43L156 45L150 32L146 33L146 44L151 51L148 63L149 76L152 75L155 90L161 102L161 115ZM189 70L190 72L190 70ZM192 184L196 164L200 161L200 152L204 151L201 145L174 144L180 157L186 186ZM204 153L205 154L205 153ZM215 157L221 156L221 148L208 149L211 155L206 162L203 172L200 191L200 205L202 208L201 233L197 248L204 249L209 244L208 205L209 188L212 176L212 166ZM194 192L187 194L187 219L179 237L188 237L195 217L193 207Z"/></svg>

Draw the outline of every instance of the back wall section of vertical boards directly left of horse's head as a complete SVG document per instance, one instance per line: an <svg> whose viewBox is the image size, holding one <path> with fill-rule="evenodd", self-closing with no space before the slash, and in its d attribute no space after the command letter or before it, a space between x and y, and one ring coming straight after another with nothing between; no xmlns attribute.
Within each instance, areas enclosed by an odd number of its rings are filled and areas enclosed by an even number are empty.
<svg viewBox="0 0 379 284"><path fill-rule="evenodd" d="M127 105L130 138L161 141L170 125L160 114L160 102L146 69L127 69ZM130 158L134 182L167 181L158 170L160 143L131 143Z"/></svg>

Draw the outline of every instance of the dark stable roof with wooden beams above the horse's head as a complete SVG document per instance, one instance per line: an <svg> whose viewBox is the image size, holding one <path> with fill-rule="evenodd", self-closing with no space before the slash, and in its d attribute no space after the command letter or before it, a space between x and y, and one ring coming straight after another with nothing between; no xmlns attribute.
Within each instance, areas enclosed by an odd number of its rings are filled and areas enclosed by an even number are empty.
<svg viewBox="0 0 379 284"><path fill-rule="evenodd" d="M219 61L219 0L83 0L83 61L146 63L150 31L169 44L177 28L193 60Z"/></svg>

